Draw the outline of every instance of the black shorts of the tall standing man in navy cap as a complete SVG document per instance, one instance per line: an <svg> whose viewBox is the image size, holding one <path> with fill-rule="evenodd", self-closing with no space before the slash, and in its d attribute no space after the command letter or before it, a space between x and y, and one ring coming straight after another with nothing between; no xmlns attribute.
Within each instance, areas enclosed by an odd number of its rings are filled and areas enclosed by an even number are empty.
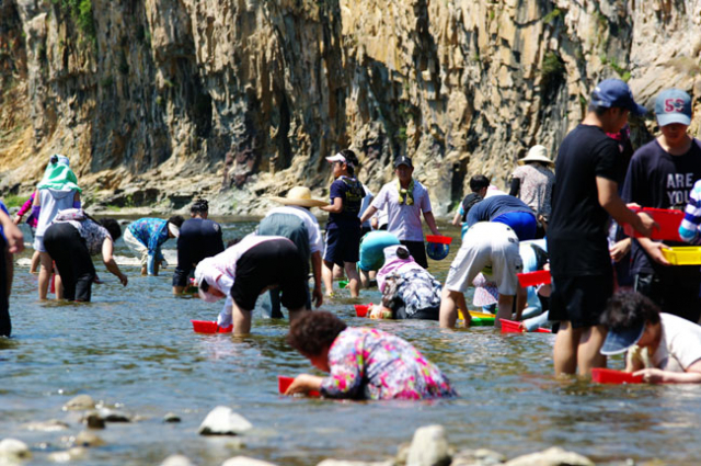
<svg viewBox="0 0 701 466"><path fill-rule="evenodd" d="M613 273L552 279L550 320L570 321L573 329L600 325L613 294Z"/></svg>

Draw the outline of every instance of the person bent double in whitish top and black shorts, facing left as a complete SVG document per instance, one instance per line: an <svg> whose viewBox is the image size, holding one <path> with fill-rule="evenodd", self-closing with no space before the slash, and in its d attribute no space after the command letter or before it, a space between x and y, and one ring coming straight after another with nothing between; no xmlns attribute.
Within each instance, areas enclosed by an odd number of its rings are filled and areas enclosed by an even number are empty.
<svg viewBox="0 0 701 466"><path fill-rule="evenodd" d="M307 310L307 272L292 241L279 236L249 235L223 252L199 262L195 284L199 296L214 303L227 298L219 327L233 323L234 334L251 332L251 314L258 295L279 287L290 322Z"/></svg>

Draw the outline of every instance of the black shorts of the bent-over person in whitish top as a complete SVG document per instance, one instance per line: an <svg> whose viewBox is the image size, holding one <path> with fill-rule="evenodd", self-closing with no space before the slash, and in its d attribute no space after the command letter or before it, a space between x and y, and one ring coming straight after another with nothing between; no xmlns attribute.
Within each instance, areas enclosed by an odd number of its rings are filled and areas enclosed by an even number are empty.
<svg viewBox="0 0 701 466"><path fill-rule="evenodd" d="M249 249L237 261L231 297L242 310L253 310L264 288L276 285L288 309L307 303L307 274L297 247L287 239L264 241Z"/></svg>

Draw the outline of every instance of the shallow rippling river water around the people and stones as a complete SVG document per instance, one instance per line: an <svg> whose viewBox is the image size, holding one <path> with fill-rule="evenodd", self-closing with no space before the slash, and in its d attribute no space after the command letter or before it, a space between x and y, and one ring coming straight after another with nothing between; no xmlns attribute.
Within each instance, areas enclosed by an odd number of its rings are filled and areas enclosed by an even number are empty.
<svg viewBox="0 0 701 466"><path fill-rule="evenodd" d="M225 239L252 228L252 223L228 224ZM430 263L438 280L444 281L457 249L455 245L447 260ZM116 253L130 255L122 240ZM509 458L560 445L597 464L627 458L701 463L701 452L693 447L701 443L701 387L555 380L550 334L501 334L491 328L445 331L436 322L358 319L352 304L377 303L379 293L364 291L360 300L353 300L341 292L340 299L323 308L352 326L378 326L413 342L447 373L460 398L286 398L277 394L277 374L314 372L286 346L286 320L255 318L253 334L242 339L196 334L189 320L214 319L220 305L172 297L172 268L158 277L141 277L136 265L123 265L129 275L126 288L101 263L96 268L106 283L93 288L93 303L82 305L39 303L36 276L27 266L15 269L14 337L0 338L0 437L30 444L33 465L50 464L48 454L65 450L70 435L82 430L79 413L61 411L79 394L140 419L96 431L107 444L76 462L85 465L160 464L173 453L211 465L237 454L280 465L313 465L326 457L380 461L411 441L416 428L432 423L445 425L458 448L489 447ZM622 361L612 365L620 367ZM242 452L230 437L197 435L202 420L219 405L254 424L242 437ZM163 423L171 411L181 423ZM64 420L70 429L23 428L49 419Z"/></svg>

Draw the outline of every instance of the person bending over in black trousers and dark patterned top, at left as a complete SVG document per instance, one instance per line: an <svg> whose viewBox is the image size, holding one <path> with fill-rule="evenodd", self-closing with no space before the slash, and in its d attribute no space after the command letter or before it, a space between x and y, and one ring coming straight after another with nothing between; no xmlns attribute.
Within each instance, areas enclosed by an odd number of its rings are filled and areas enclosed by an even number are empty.
<svg viewBox="0 0 701 466"><path fill-rule="evenodd" d="M122 236L119 224L113 218L100 223L81 208L61 211L44 234L44 247L58 269L64 298L89 302L92 284L97 276L91 255L102 254L105 266L124 286L127 276L114 261L114 242Z"/></svg>

